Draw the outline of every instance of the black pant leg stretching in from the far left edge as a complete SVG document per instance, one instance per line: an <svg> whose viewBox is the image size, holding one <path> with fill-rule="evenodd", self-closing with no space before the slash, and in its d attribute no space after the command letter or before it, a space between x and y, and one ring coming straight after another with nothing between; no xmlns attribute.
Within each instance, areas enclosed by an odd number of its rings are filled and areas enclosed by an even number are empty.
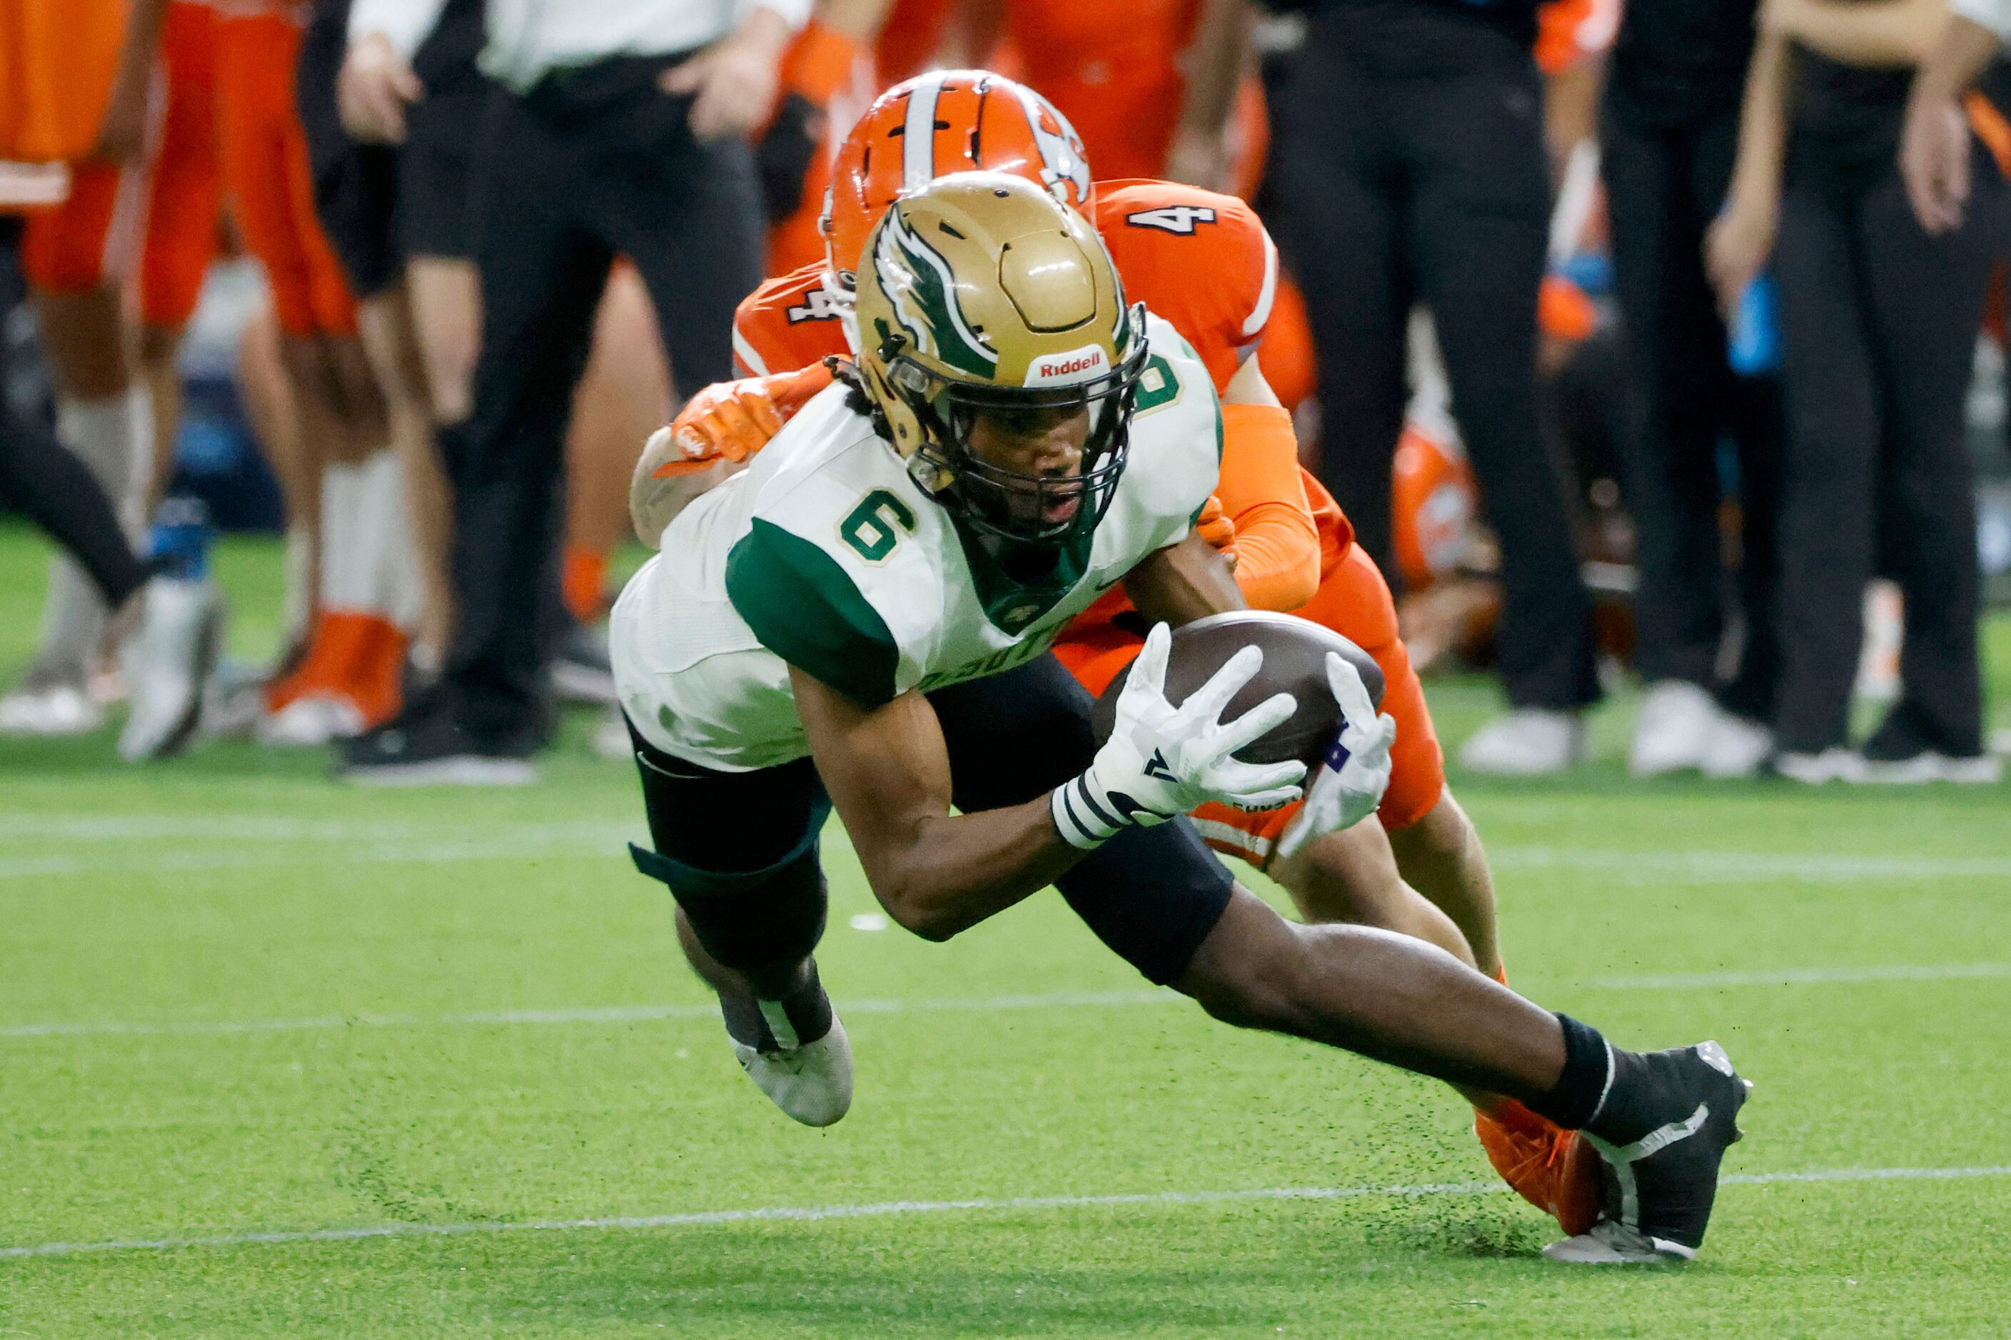
<svg viewBox="0 0 2011 1340"><path fill-rule="evenodd" d="M16 229L0 221L0 323L12 309ZM0 338L0 388L6 342ZM113 609L147 585L147 565L119 528L119 514L82 460L48 426L18 414L0 392L0 506L8 506L62 544L90 575Z"/></svg>

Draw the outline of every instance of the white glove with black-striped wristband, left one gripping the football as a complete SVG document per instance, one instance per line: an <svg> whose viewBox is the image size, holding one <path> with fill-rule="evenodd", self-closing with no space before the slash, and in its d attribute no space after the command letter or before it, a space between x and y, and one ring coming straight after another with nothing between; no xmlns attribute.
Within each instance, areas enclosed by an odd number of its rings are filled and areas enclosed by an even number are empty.
<svg viewBox="0 0 2011 1340"><path fill-rule="evenodd" d="M1245 763L1231 757L1293 713L1291 693L1277 693L1235 721L1221 719L1243 685L1263 665L1263 651L1245 647L1209 683L1174 707L1166 701L1166 655L1172 633L1154 625L1132 661L1118 695L1116 723L1096 759L1048 798L1062 838L1084 852L1118 830L1150 828L1205 802L1239 810L1273 810L1299 800L1305 763Z"/></svg>

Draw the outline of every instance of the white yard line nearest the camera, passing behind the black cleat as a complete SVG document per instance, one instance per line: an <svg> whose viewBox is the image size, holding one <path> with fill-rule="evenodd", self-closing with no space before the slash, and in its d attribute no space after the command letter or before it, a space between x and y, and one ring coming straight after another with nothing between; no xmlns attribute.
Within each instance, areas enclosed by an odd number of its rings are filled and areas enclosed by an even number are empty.
<svg viewBox="0 0 2011 1340"><path fill-rule="evenodd" d="M2011 1177L2011 1167L1842 1167L1804 1173L1740 1173L1721 1185L1838 1183L1838 1181L1971 1181ZM109 1252L185 1252L195 1248L263 1248L312 1242L368 1242L376 1238L467 1238L477 1234L567 1234L706 1227L718 1223L816 1223L827 1219L877 1219L891 1215L1102 1209L1114 1205L1235 1205L1249 1201L1331 1201L1359 1197L1494 1195L1498 1181L1444 1181L1390 1187L1267 1187L1261 1191L1136 1191L1128 1195L1012 1195L953 1201L869 1201L863 1205L766 1205L758 1209L700 1209L690 1213L615 1215L597 1219L525 1219L485 1223L378 1223L273 1234L217 1234L213 1238L127 1238L109 1242L40 1242L0 1248L0 1260L34 1256L103 1256Z"/></svg>

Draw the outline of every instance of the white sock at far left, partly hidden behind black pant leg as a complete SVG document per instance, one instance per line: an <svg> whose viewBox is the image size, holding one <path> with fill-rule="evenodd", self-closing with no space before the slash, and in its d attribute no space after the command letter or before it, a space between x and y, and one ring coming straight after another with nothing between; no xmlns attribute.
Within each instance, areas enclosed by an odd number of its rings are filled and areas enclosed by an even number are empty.
<svg viewBox="0 0 2011 1340"><path fill-rule="evenodd" d="M143 530L145 460L153 454L153 402L139 386L103 400L64 400L56 438L76 454L105 490L129 542ZM32 677L82 681L93 653L105 639L105 597L68 554L48 565L48 601L42 607L42 649Z"/></svg>

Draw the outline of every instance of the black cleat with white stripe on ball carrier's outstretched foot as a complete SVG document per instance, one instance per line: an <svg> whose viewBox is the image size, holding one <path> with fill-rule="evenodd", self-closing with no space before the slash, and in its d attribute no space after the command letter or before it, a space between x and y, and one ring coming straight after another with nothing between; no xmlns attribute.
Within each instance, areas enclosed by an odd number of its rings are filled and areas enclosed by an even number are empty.
<svg viewBox="0 0 2011 1340"><path fill-rule="evenodd" d="M1639 1061L1645 1071L1635 1073L1627 1105L1653 1115L1633 1123L1641 1133L1625 1145L1583 1131L1605 1161L1605 1213L1589 1232L1544 1248L1552 1262L1665 1266L1693 1260L1703 1246L1717 1165L1740 1139L1738 1115L1752 1085L1717 1043Z"/></svg>

